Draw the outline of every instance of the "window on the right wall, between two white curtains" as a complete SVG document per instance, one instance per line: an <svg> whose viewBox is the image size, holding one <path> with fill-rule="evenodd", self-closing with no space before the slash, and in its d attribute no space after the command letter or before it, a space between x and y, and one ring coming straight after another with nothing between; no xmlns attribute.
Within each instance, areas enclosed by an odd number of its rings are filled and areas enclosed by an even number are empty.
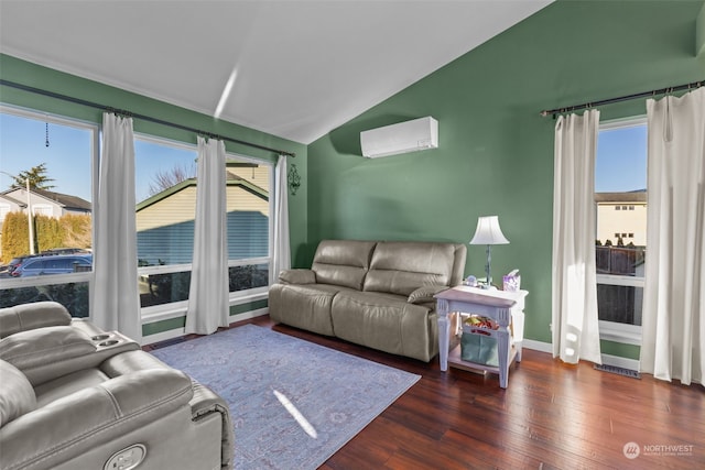
<svg viewBox="0 0 705 470"><path fill-rule="evenodd" d="M600 125L595 204L600 332L638 335L647 251L646 119Z"/></svg>

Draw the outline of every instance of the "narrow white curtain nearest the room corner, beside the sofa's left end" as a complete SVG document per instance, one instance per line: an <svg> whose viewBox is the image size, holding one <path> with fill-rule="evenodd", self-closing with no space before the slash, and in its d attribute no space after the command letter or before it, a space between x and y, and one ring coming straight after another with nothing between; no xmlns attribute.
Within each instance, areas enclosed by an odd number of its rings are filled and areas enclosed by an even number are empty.
<svg viewBox="0 0 705 470"><path fill-rule="evenodd" d="M279 155L274 172L274 247L272 250L272 269L269 277L273 284L279 272L291 267L291 248L289 244L289 186L286 155Z"/></svg>

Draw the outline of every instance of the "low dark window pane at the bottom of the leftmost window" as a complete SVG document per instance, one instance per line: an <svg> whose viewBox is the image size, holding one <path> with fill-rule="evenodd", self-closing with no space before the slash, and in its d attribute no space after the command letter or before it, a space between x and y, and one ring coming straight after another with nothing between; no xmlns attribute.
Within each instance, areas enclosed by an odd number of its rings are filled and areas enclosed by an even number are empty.
<svg viewBox="0 0 705 470"><path fill-rule="evenodd" d="M88 283L52 284L0 291L0 308L32 302L54 300L62 304L72 317L88 317Z"/></svg>

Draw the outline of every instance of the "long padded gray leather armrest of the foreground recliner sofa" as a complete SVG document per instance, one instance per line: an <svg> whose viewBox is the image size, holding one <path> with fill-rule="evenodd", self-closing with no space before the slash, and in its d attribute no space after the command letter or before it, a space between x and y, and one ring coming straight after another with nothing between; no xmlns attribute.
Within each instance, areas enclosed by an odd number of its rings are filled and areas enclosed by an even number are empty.
<svg viewBox="0 0 705 470"><path fill-rule="evenodd" d="M55 467L180 407L187 408L192 397L191 379L176 370L110 379L2 426L0 468Z"/></svg>

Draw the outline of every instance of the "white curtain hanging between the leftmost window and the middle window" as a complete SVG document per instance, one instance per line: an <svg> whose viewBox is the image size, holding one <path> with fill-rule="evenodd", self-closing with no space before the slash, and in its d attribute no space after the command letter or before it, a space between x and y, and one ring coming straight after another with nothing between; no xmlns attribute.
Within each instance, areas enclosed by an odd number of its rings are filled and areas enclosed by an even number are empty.
<svg viewBox="0 0 705 470"><path fill-rule="evenodd" d="M134 135L132 119L102 116L91 320L142 341L134 222Z"/></svg>

